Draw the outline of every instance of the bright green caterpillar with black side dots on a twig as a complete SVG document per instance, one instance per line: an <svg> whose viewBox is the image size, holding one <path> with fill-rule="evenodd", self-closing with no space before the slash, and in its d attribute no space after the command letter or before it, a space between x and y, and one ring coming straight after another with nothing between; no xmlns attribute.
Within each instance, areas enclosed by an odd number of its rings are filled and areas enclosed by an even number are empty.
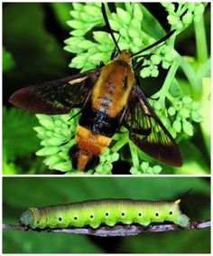
<svg viewBox="0 0 213 256"><path fill-rule="evenodd" d="M35 228L69 228L86 225L96 229L100 224L150 223L169 221L186 227L190 218L181 213L181 199L175 202L152 202L132 199L103 199L81 203L29 208L19 218L19 223Z"/></svg>

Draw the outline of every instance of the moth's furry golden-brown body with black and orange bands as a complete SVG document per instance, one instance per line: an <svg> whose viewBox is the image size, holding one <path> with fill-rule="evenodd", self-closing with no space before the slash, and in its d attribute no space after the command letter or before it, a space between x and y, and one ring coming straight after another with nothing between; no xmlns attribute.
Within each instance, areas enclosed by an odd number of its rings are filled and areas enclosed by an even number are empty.
<svg viewBox="0 0 213 256"><path fill-rule="evenodd" d="M111 143L119 117L134 86L131 53L121 52L101 69L91 99L82 109L75 141L70 149L73 167L81 171L97 165L98 156Z"/></svg>

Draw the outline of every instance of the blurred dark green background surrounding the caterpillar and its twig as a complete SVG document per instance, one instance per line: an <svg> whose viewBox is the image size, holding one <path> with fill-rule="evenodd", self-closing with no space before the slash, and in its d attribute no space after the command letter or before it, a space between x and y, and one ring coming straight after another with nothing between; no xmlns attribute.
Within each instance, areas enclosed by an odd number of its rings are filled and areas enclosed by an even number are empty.
<svg viewBox="0 0 213 256"><path fill-rule="evenodd" d="M209 179L197 177L4 177L3 220L15 223L29 206L67 204L89 199L132 198L181 202L192 221L210 218ZM134 237L96 238L47 232L3 232L5 253L209 253L210 230L144 233Z"/></svg>

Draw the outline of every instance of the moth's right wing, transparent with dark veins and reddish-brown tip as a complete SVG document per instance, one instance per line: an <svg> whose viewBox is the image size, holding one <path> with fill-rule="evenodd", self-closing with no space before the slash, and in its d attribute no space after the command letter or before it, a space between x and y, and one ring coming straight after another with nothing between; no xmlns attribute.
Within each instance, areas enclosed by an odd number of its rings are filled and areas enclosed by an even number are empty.
<svg viewBox="0 0 213 256"><path fill-rule="evenodd" d="M151 108L144 92L137 86L130 96L124 126L130 139L149 156L171 166L182 166L182 156L173 137Z"/></svg>

